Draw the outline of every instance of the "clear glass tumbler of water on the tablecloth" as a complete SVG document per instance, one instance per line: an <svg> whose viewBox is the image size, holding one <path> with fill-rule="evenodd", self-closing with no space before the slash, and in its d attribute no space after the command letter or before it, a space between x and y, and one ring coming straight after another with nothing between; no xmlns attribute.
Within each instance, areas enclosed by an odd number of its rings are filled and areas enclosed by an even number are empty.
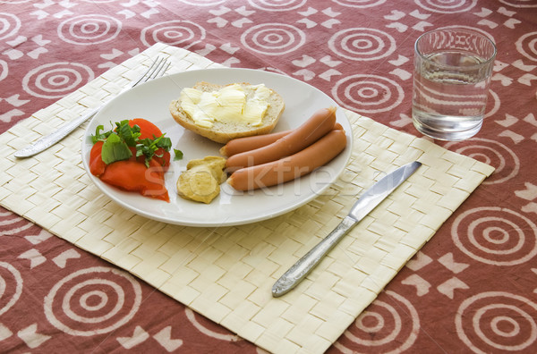
<svg viewBox="0 0 537 354"><path fill-rule="evenodd" d="M481 130L496 46L465 28L431 30L414 46L414 127L433 139L458 141Z"/></svg>

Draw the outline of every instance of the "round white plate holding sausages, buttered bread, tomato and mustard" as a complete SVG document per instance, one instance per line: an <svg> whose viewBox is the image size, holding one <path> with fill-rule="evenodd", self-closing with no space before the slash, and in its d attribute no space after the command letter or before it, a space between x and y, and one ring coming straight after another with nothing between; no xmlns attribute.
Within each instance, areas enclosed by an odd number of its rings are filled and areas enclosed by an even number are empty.
<svg viewBox="0 0 537 354"><path fill-rule="evenodd" d="M184 130L174 121L168 111L169 103L179 97L181 90L192 87L198 81L217 84L264 83L268 88L275 89L284 98L286 110L274 131L296 128L320 108L337 106L336 102L319 89L274 72L250 69L208 69L181 72L149 81L115 97L105 105L90 121L84 134L81 148L84 168L91 181L109 198L134 213L165 223L190 226L236 225L268 219L303 206L323 193L345 169L352 151L351 125L343 110L338 108L337 122L346 131L347 146L326 166L301 179L265 190L238 192L224 183L221 186L220 195L209 205L179 197L176 194L175 183L179 174L186 169L188 161L204 156L219 156L218 149L222 146L192 131ZM135 192L117 190L90 173L88 164L92 147L90 137L91 134L95 134L97 126L103 124L108 130L111 129L110 122L132 118L145 118L155 123L172 140L173 148L183 151L183 159L180 161L173 161L172 151L172 163L165 176L170 203L142 197Z"/></svg>

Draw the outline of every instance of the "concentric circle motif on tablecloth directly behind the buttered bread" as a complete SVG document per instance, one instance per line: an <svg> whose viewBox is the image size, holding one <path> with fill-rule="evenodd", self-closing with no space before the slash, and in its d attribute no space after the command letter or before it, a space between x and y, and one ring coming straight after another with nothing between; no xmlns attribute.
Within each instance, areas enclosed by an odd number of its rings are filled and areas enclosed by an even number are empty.
<svg viewBox="0 0 537 354"><path fill-rule="evenodd" d="M306 42L303 30L286 23L264 23L243 32L241 43L263 55L285 55Z"/></svg>

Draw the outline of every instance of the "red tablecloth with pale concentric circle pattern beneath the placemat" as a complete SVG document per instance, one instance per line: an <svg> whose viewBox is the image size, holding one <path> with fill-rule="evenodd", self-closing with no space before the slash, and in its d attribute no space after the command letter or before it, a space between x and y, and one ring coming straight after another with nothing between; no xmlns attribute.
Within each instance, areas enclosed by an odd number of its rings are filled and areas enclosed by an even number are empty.
<svg viewBox="0 0 537 354"><path fill-rule="evenodd" d="M0 4L0 133L162 42L229 67L284 73L418 135L409 118L415 39L449 26L487 34L499 55L482 131L437 143L496 170L328 352L537 351L534 0ZM0 242L0 351L263 351L4 208ZM72 297L93 283L108 291ZM56 296L64 303L53 308ZM83 330L54 320L60 312Z"/></svg>

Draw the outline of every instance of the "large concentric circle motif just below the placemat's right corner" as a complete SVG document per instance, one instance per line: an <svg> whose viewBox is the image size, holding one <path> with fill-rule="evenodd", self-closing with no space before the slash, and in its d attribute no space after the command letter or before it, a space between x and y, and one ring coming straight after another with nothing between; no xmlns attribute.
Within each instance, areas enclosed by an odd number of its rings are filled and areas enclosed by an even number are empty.
<svg viewBox="0 0 537 354"><path fill-rule="evenodd" d="M468 210L456 217L451 235L458 249L490 265L520 265L537 256L537 225L507 208Z"/></svg>

